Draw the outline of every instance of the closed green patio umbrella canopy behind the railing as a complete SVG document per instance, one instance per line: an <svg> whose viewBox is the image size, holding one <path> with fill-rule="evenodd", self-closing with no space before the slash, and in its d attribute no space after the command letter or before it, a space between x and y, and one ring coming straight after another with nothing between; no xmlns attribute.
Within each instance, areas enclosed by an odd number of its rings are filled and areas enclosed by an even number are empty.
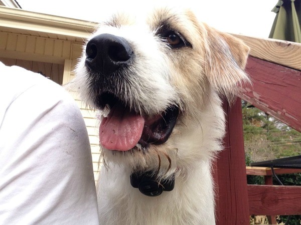
<svg viewBox="0 0 301 225"><path fill-rule="evenodd" d="M269 38L301 43L301 0L278 0Z"/></svg>

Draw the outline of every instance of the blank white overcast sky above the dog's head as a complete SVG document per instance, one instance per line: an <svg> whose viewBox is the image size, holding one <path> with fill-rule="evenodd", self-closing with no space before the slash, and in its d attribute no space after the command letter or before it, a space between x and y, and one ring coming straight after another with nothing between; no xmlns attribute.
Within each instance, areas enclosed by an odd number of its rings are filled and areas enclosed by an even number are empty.
<svg viewBox="0 0 301 225"><path fill-rule="evenodd" d="M222 31L268 37L277 0L17 0L29 11L100 21L116 10L131 8L140 12L154 2L191 7L202 21ZM168 2L168 3L167 3ZM196 3L197 2L197 3Z"/></svg>

